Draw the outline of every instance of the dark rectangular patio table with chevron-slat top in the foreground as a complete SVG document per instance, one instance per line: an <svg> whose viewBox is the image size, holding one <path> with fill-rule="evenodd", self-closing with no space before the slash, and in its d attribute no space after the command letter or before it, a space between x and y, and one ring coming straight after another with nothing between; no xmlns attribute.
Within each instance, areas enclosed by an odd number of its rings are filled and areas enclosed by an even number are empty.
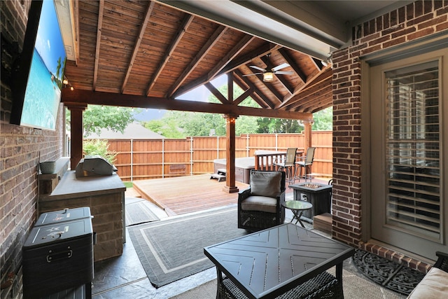
<svg viewBox="0 0 448 299"><path fill-rule="evenodd" d="M207 246L216 298L344 298L342 263L351 246L292 223ZM336 266L335 276L326 270Z"/></svg>

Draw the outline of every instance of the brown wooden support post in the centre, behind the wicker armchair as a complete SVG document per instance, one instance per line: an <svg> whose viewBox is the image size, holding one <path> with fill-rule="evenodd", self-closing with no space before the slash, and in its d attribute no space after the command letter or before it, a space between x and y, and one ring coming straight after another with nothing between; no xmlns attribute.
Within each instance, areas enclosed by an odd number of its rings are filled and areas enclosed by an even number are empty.
<svg viewBox="0 0 448 299"><path fill-rule="evenodd" d="M237 120L237 116L226 114L224 117L227 138L227 146L225 148L227 178L225 179L223 190L228 193L235 193L239 191L235 184L235 120Z"/></svg>

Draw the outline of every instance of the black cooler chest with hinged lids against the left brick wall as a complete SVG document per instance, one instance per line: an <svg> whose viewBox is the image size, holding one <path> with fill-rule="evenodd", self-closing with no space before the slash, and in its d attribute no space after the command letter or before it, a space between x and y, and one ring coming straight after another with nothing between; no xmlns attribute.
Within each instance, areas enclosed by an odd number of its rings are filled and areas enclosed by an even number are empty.
<svg viewBox="0 0 448 299"><path fill-rule="evenodd" d="M82 298L91 297L94 237L90 211L88 215L31 229L22 248L24 298L41 298L83 285Z"/></svg>

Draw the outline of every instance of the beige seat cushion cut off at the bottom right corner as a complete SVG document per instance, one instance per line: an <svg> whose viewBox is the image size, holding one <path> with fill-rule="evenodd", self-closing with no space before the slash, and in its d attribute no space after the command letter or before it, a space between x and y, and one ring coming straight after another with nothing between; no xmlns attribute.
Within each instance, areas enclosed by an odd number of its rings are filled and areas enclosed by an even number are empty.
<svg viewBox="0 0 448 299"><path fill-rule="evenodd" d="M448 273L439 268L432 267L425 277L417 284L407 298L410 299L432 299L447 298Z"/></svg>

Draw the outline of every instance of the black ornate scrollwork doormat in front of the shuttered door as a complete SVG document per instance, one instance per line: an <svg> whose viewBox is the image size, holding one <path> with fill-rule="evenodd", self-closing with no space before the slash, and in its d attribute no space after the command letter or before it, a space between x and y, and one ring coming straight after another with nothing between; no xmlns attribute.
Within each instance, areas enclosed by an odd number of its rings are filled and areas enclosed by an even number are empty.
<svg viewBox="0 0 448 299"><path fill-rule="evenodd" d="M375 283L402 295L409 295L425 276L422 272L361 249L355 250L353 263Z"/></svg>

